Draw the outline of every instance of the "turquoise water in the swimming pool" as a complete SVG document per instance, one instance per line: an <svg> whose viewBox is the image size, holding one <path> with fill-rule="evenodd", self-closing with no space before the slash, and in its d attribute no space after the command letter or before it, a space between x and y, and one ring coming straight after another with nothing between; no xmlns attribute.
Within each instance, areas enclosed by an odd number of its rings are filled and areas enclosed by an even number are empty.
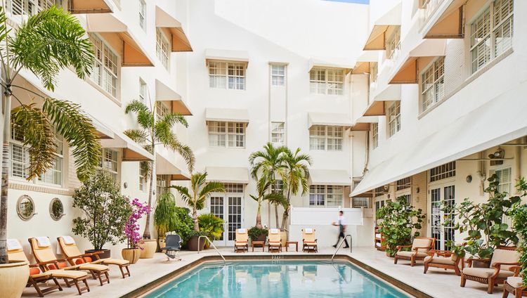
<svg viewBox="0 0 527 298"><path fill-rule="evenodd" d="M350 263L237 261L203 264L146 297L408 297Z"/></svg>

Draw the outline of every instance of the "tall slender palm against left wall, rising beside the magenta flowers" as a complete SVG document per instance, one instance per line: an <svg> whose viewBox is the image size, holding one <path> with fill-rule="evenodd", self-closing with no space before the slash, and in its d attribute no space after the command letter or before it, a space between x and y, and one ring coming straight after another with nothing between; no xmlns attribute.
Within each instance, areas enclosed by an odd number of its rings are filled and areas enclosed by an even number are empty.
<svg viewBox="0 0 527 298"><path fill-rule="evenodd" d="M148 191L148 206L152 206L152 190L154 189L154 175L155 175L155 147L157 145L165 145L171 150L176 151L181 155L187 162L188 170L192 173L195 163L194 153L188 147L180 141L176 134L172 131L174 125L183 124L188 127L187 120L183 115L168 112L162 117L157 117L157 105L162 103L156 102L152 110L148 108L145 103L134 100L131 101L124 112L134 112L137 115L137 123L139 129L128 129L124 131L126 136L129 136L132 140L142 144L146 150L154 155L154 161L143 162L141 164L142 169L146 169L150 178L150 188ZM143 238L150 239L150 213L146 214L145 231L143 232Z"/></svg>

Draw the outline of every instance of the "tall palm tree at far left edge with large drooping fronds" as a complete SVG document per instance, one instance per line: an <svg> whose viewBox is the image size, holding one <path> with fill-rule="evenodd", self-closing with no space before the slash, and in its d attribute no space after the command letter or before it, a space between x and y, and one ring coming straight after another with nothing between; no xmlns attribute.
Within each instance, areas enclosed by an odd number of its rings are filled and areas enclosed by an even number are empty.
<svg viewBox="0 0 527 298"><path fill-rule="evenodd" d="M95 57L93 46L77 18L53 6L30 16L14 32L7 24L4 8L0 7L0 84L4 89L0 264L8 262L6 236L11 129L15 128L23 136L24 145L29 147L28 180L44 174L53 166L57 136L62 136L73 148L77 176L81 181L95 172L101 154L96 130L80 105L45 98L15 84L22 68L36 74L50 91L55 89L58 73L66 67L72 67L81 79L89 75ZM41 103L22 103L13 94L16 88L33 93ZM19 105L11 110L13 98Z"/></svg>

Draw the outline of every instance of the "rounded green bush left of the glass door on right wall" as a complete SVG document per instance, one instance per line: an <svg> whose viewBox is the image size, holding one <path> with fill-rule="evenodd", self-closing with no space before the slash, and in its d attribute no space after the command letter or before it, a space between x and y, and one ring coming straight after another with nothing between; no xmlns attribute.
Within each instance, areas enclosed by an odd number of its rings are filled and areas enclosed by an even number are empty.
<svg viewBox="0 0 527 298"><path fill-rule="evenodd" d="M377 219L382 219L379 231L384 235L386 253L393 257L398 245L411 245L412 239L419 237L419 230L426 215L422 209L414 209L405 197L389 201L377 210Z"/></svg>

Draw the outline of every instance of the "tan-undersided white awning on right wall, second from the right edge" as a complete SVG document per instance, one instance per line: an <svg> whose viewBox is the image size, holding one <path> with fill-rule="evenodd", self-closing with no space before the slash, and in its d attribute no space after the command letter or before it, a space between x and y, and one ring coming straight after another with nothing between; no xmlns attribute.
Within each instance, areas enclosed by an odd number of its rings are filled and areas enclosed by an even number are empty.
<svg viewBox="0 0 527 298"><path fill-rule="evenodd" d="M401 65L395 67L390 84L417 84L417 72L434 58L445 56L445 52L446 39L424 39L408 53Z"/></svg>

